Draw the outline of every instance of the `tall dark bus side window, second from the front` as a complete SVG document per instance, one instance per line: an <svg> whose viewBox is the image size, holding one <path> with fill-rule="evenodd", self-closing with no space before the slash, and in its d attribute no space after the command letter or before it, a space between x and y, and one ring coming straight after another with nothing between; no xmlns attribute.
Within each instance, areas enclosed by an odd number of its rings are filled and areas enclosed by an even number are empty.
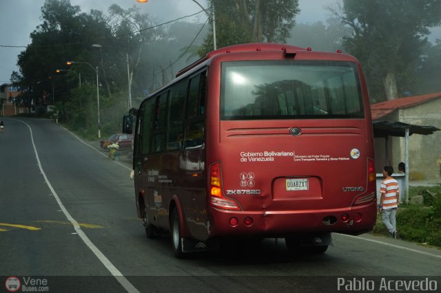
<svg viewBox="0 0 441 293"><path fill-rule="evenodd" d="M165 150L165 133L167 126L167 98L168 91L158 96L155 106L153 152Z"/></svg>

